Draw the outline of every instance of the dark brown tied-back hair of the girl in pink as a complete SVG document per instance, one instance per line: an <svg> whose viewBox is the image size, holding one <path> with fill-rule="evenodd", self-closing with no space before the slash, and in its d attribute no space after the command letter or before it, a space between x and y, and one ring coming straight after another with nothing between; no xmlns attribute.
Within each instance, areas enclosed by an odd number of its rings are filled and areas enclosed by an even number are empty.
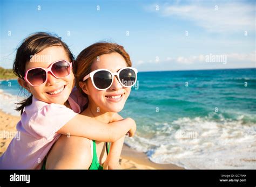
<svg viewBox="0 0 256 187"><path fill-rule="evenodd" d="M28 38L25 38L22 44L18 47L14 66L12 68L14 74L19 78L24 79L26 63L30 61L31 56L51 46L62 46L68 55L70 62L74 60L73 54L71 53L68 45L66 45L56 34L37 32L30 35ZM30 105L31 103L32 94L30 94L28 98L22 100L22 102L16 103L20 106L18 106L15 110L21 111L22 114L24 107Z"/></svg>

